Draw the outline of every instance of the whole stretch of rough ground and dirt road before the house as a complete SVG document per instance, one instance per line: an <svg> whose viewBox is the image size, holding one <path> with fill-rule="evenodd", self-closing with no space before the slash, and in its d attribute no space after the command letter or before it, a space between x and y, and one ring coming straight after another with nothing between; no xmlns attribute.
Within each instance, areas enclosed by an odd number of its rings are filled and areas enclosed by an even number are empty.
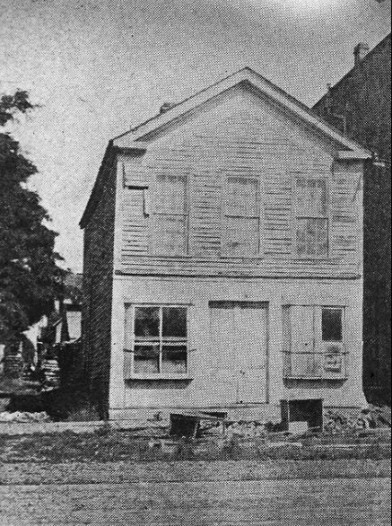
<svg viewBox="0 0 392 526"><path fill-rule="evenodd" d="M0 436L0 526L384 526L390 432Z"/></svg>

